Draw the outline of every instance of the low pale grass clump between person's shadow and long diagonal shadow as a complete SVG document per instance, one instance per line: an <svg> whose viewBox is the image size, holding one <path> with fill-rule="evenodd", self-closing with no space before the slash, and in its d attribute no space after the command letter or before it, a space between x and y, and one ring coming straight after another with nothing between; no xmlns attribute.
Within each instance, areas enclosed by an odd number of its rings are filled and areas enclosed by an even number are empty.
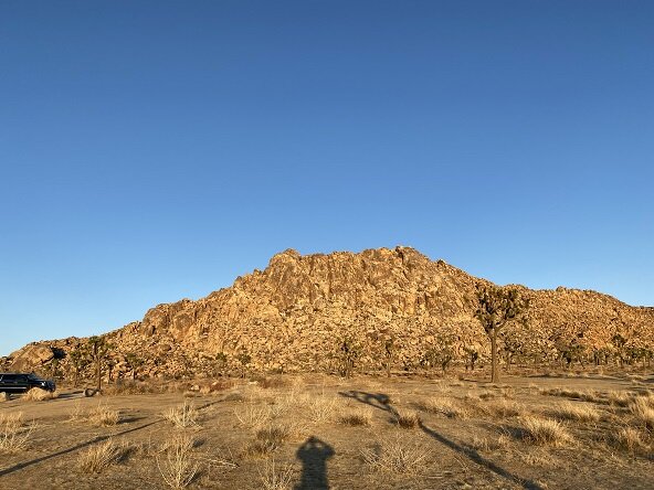
<svg viewBox="0 0 654 490"><path fill-rule="evenodd" d="M425 466L430 451L419 443L397 438L378 443L372 449L362 449L361 456L376 470L416 475Z"/></svg>

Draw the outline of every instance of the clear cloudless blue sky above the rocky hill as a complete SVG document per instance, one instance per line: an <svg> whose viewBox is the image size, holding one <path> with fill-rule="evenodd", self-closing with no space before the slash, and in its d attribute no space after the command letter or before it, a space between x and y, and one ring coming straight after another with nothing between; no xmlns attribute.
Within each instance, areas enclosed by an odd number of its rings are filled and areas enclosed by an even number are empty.
<svg viewBox="0 0 654 490"><path fill-rule="evenodd" d="M654 305L652 1L2 1L0 354L293 247Z"/></svg>

